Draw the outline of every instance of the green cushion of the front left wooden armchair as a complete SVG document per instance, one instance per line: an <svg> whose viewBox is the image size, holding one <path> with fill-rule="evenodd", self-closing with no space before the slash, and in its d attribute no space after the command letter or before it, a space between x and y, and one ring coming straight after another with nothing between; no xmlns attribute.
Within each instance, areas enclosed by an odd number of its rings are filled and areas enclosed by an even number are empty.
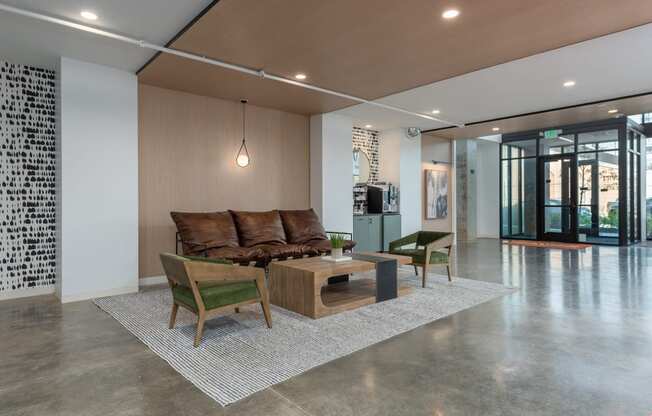
<svg viewBox="0 0 652 416"><path fill-rule="evenodd" d="M199 294L206 309L210 310L255 299L258 297L258 289L254 282L207 282L199 285ZM197 310L195 297L189 287L177 285L172 289L172 295L175 301Z"/></svg>

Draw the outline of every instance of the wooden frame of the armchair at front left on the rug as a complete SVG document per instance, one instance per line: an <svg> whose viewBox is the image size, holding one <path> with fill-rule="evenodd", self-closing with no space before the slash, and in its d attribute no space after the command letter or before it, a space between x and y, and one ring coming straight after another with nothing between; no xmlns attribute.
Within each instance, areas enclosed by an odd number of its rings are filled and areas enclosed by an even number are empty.
<svg viewBox="0 0 652 416"><path fill-rule="evenodd" d="M194 346L198 347L202 334L204 332L204 322L209 317L233 311L240 312L239 308L243 305L260 303L265 316L265 322L269 328L272 327L272 315L269 307L269 293L265 286L265 272L261 268L239 266L233 264L220 264L209 261L190 260L174 254L161 254L161 262L167 275L170 289L177 285L189 287L195 300L197 308L193 305L186 305L183 302L173 301L172 312L170 313L170 329L174 328L179 306L193 312L197 315L197 332L195 335ZM199 293L199 285L205 282L253 282L258 289L256 298L248 299L243 302L221 306L214 309L206 309L204 301Z"/></svg>

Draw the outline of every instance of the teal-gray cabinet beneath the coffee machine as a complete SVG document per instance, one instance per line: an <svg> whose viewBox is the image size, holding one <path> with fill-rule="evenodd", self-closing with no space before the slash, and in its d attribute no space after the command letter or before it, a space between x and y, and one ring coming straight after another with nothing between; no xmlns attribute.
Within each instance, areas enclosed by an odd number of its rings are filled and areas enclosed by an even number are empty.
<svg viewBox="0 0 652 416"><path fill-rule="evenodd" d="M354 251L387 251L389 242L401 238L401 216L356 215L353 217Z"/></svg>

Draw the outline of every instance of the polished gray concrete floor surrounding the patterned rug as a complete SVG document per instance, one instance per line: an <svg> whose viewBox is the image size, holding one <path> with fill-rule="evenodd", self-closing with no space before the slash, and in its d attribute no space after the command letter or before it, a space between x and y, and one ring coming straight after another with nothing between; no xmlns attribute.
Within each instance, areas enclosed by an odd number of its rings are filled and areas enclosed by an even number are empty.
<svg viewBox="0 0 652 416"><path fill-rule="evenodd" d="M0 302L0 414L652 414L652 247L479 240L455 259L520 290L227 408L90 302Z"/></svg>

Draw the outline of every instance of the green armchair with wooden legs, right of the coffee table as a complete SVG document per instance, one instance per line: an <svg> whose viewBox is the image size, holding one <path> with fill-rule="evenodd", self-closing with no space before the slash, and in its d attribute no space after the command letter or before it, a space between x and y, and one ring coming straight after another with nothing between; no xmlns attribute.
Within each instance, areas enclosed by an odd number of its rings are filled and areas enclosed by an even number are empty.
<svg viewBox="0 0 652 416"><path fill-rule="evenodd" d="M423 287L426 287L428 266L431 264L446 266L448 280L451 281L450 257L454 237L453 233L418 231L389 243L389 252L410 256L414 272L417 275L419 274L417 266L421 266L423 268Z"/></svg>

